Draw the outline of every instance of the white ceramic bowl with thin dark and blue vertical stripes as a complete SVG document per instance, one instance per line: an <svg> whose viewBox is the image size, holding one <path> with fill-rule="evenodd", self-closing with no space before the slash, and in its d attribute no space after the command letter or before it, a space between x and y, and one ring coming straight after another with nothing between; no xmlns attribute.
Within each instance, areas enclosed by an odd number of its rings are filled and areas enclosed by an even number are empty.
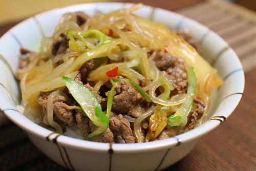
<svg viewBox="0 0 256 171"><path fill-rule="evenodd" d="M16 110L20 92L13 73L21 47L37 51L40 39L51 36L63 13L96 10L109 12L127 3L94 3L58 8L30 17L0 39L0 109L21 127L48 157L71 170L161 170L187 155L200 138L219 126L238 105L244 90L244 72L237 55L216 33L182 15L144 6L137 15L165 24L170 29L190 29L202 47L202 55L224 80L211 103L207 121L184 134L148 143L113 144L83 141L58 135L30 121Z"/></svg>

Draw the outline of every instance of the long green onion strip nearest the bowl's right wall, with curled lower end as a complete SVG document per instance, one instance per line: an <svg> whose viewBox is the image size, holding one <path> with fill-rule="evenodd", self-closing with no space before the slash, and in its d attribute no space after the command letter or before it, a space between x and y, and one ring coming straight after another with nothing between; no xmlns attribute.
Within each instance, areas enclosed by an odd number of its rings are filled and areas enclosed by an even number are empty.
<svg viewBox="0 0 256 171"><path fill-rule="evenodd" d="M187 95L189 96L188 100L181 104L180 110L182 110L185 116L180 116L181 114L177 111L174 115L169 116L167 123L170 126L179 126L182 124L182 117L187 117L191 111L197 86L197 77L195 70L192 66L187 67L187 78L188 78L188 88ZM178 117L180 116L180 118ZM179 119L177 119L179 118Z"/></svg>

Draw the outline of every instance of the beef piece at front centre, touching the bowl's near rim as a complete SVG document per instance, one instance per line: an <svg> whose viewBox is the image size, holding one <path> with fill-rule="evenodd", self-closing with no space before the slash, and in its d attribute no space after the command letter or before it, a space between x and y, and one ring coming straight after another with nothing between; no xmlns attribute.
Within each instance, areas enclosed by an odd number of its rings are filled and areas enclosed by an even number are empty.
<svg viewBox="0 0 256 171"><path fill-rule="evenodd" d="M123 115L118 114L110 118L110 130L115 143L135 143L130 122Z"/></svg>

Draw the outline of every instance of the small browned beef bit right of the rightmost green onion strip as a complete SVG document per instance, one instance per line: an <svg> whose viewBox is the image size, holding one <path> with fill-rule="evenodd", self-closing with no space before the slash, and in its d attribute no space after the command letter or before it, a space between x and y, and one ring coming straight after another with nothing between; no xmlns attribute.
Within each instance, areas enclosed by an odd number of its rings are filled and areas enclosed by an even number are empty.
<svg viewBox="0 0 256 171"><path fill-rule="evenodd" d="M198 98L194 99L194 105L195 105L195 109L193 111L191 111L188 116L188 123L187 123L188 126L187 127L189 130L192 130L196 127L197 120L203 116L205 106L206 106L205 103Z"/></svg>

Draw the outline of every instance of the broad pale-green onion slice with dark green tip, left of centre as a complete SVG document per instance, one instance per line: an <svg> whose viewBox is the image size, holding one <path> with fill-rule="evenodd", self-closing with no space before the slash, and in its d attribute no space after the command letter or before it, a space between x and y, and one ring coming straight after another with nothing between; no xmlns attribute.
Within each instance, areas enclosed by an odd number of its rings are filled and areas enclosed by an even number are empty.
<svg viewBox="0 0 256 171"><path fill-rule="evenodd" d="M81 106L83 112L86 113L93 124L98 126L98 129L89 134L86 138L91 138L106 131L109 125L109 119L104 112L101 111L101 105L91 90L69 77L62 76L61 79L65 82L66 87Z"/></svg>

